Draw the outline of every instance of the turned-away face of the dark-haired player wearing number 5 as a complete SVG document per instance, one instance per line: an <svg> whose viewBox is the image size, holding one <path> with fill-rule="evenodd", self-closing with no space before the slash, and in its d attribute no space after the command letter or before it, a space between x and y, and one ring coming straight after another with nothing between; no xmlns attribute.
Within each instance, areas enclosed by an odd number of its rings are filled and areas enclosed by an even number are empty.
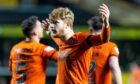
<svg viewBox="0 0 140 84"><path fill-rule="evenodd" d="M35 33L39 38L43 37L43 28L40 21L36 22Z"/></svg>

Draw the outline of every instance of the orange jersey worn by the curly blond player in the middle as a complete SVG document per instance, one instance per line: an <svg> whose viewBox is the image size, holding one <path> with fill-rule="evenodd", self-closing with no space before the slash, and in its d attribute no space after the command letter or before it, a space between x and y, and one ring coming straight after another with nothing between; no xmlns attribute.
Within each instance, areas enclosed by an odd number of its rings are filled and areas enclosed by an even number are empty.
<svg viewBox="0 0 140 84"><path fill-rule="evenodd" d="M110 30L107 30L109 33ZM106 34L109 38L109 34ZM92 36L88 33L76 33L70 39L62 42L53 38L61 51L71 49L66 60L58 61L56 84L88 84L88 71L92 56L92 45L103 43L104 36Z"/></svg>

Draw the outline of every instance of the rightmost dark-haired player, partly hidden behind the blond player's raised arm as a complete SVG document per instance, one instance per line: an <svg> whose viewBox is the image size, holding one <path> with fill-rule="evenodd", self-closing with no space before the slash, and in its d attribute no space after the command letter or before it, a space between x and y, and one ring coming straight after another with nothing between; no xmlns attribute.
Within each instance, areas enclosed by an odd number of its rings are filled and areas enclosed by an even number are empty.
<svg viewBox="0 0 140 84"><path fill-rule="evenodd" d="M101 33L103 20L92 17L89 21L89 31L92 35ZM113 42L107 42L92 48L93 55L90 62L89 84L112 84L112 74L115 84L122 84L121 71L118 63L119 51Z"/></svg>

